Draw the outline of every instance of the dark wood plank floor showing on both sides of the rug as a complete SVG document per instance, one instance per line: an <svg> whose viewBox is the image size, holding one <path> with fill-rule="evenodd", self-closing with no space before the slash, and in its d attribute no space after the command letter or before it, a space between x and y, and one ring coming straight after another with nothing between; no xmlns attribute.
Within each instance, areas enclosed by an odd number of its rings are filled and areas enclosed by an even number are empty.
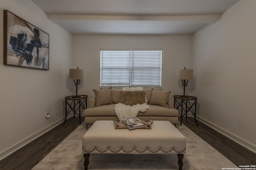
<svg viewBox="0 0 256 170"><path fill-rule="evenodd" d="M81 119L84 119L84 117ZM183 119L182 123L237 166L256 164L256 154L254 152L238 145L200 121L198 121L198 126L196 126L193 117L188 117L187 120ZM35 139L28 145L1 160L0 170L32 169L52 149L58 146L61 141L74 131L78 125L78 117L68 119L64 126L62 124L58 125L38 139Z"/></svg>

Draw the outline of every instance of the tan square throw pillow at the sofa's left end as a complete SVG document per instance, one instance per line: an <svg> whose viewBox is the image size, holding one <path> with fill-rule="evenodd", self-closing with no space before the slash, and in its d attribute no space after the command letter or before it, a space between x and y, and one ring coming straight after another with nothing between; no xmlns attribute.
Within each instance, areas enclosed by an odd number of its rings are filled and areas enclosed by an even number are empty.
<svg viewBox="0 0 256 170"><path fill-rule="evenodd" d="M111 98L111 87L106 89L93 89L95 94L95 106L113 104Z"/></svg>

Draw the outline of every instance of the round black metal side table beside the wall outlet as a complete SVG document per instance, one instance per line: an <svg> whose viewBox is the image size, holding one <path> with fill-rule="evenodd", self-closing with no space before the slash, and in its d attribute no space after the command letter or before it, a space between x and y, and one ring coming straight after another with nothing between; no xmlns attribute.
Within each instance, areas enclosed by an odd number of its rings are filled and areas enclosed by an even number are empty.
<svg viewBox="0 0 256 170"><path fill-rule="evenodd" d="M84 109L87 109L87 98L88 95L78 95L78 96L66 96L65 97L65 103L66 103L66 117L63 125L66 122L68 114L72 111L74 112L74 118L75 115L78 115L79 117L79 123L81 125L81 115ZM68 102L68 101L71 101Z"/></svg>

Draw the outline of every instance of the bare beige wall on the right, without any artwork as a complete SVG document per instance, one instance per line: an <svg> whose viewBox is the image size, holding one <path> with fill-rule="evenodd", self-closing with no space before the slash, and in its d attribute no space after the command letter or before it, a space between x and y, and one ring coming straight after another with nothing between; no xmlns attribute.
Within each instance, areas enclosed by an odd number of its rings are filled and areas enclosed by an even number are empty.
<svg viewBox="0 0 256 170"><path fill-rule="evenodd" d="M255 9L255 0L241 0L193 36L198 117L254 152Z"/></svg>

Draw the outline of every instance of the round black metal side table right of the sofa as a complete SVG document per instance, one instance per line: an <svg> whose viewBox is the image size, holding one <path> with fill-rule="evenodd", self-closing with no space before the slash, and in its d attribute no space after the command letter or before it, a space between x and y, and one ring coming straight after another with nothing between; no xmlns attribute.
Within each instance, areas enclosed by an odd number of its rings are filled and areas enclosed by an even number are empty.
<svg viewBox="0 0 256 170"><path fill-rule="evenodd" d="M178 111L180 113L180 125L182 125L182 118L184 115L186 115L186 119L187 119L188 111L190 111L194 115L194 119L196 122L196 100L197 100L197 97L182 96L182 95L174 95L173 97L174 97L174 108L178 109ZM183 105L185 106L185 108L183 107ZM193 109L193 106L194 106L194 109ZM180 107L181 107L181 111L179 110ZM183 111L185 112L184 114L183 114ZM196 125L198 126L197 122L196 122Z"/></svg>

